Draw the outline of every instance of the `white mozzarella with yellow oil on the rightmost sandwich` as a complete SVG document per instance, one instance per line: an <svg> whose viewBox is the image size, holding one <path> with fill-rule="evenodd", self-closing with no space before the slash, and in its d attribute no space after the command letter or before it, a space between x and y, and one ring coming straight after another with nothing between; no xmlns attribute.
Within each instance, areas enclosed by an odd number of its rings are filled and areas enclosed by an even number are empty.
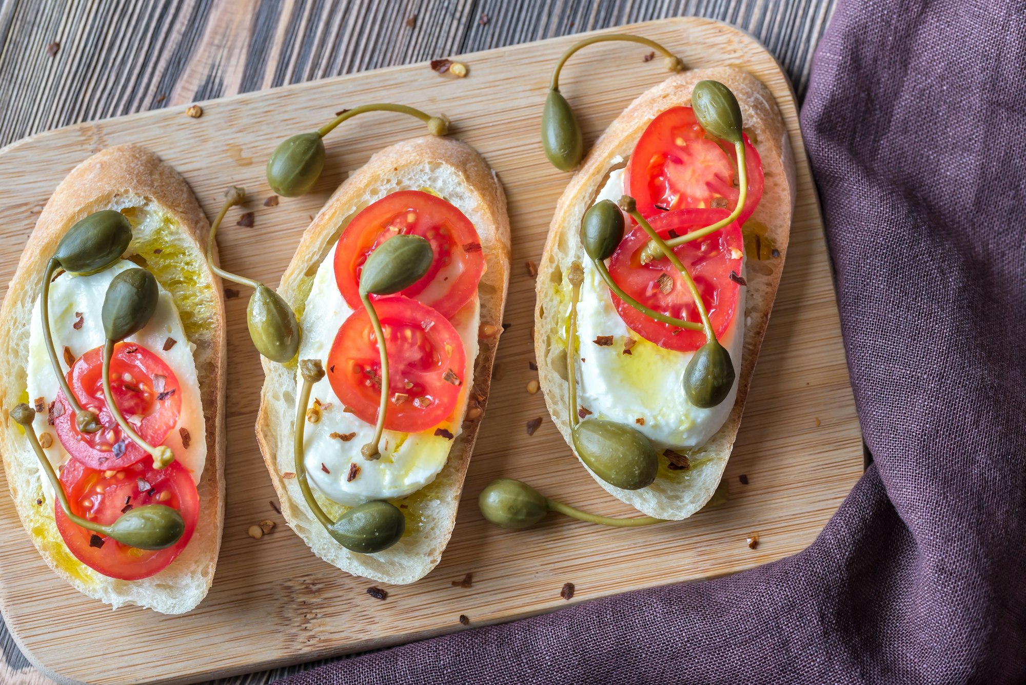
<svg viewBox="0 0 1026 685"><path fill-rule="evenodd" d="M623 169L613 171L595 202L618 201L624 194L623 176ZM737 378L731 394L717 406L709 409L694 406L683 391L684 369L694 353L665 350L628 328L590 260L585 259L584 273L578 305L581 360L578 402L596 418L636 428L661 447L704 445L731 414L738 395ZM741 369L744 312L745 288L741 288L734 320L719 339L731 353L736 370ZM568 303L566 315L569 315ZM599 347L592 342L599 335L613 335L613 345ZM623 354L627 337L637 340L630 355Z"/></svg>

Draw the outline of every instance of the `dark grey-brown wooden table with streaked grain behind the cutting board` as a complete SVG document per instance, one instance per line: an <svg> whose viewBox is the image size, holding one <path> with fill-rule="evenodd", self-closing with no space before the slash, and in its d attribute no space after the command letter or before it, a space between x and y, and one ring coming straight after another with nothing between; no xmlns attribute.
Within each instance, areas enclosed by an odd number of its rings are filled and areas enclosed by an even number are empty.
<svg viewBox="0 0 1026 685"><path fill-rule="evenodd" d="M0 146L81 121L677 15L713 17L754 34L800 100L834 3L0 0ZM0 683L51 682L2 623L0 649ZM117 668L116 650L111 664ZM263 685L304 668L221 682Z"/></svg>

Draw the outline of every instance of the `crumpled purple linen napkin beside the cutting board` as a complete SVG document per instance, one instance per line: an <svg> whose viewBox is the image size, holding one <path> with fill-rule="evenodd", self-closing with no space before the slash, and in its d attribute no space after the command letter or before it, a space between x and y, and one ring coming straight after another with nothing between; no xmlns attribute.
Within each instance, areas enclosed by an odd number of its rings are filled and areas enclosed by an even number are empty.
<svg viewBox="0 0 1026 685"><path fill-rule="evenodd" d="M284 682L1026 682L1026 5L842 2L802 125L875 457L816 541Z"/></svg>

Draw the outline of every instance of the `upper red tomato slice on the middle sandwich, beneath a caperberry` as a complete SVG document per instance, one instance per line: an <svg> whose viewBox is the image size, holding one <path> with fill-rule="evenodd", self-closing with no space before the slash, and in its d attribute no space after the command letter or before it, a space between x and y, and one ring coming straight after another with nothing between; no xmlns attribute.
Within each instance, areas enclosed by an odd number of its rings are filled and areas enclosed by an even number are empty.
<svg viewBox="0 0 1026 685"><path fill-rule="evenodd" d="M423 191L387 195L346 227L334 252L334 279L342 296L353 310L360 309L363 263L376 247L400 233L427 239L435 259L421 280L398 294L451 317L477 292L484 273L481 238L463 212Z"/></svg>

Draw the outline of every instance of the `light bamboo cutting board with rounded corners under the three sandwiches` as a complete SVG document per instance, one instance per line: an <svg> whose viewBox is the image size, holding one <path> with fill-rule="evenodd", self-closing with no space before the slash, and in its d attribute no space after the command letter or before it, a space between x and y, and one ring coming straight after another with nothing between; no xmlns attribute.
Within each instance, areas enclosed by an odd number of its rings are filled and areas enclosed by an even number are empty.
<svg viewBox="0 0 1026 685"><path fill-rule="evenodd" d="M377 150L415 134L420 124L397 115L363 116L328 138L328 163L315 192L265 207L271 192L264 162L285 135L312 130L338 110L398 102L444 112L453 134L477 148L509 198L513 268L488 410L464 489L456 530L439 566L411 586L385 587L349 576L312 554L272 503L253 422L263 374L245 328L248 293L228 300L228 506L221 560L210 594L184 616L137 607L112 612L49 572L23 534L14 507L0 494L0 608L29 658L66 681L193 682L407 642L457 630L465 615L481 626L639 588L695 580L750 568L807 546L862 473L862 442L849 385L830 267L815 189L791 89L774 58L750 36L699 18L640 24L688 67L731 65L773 91L791 136L797 201L787 265L727 465L725 505L690 519L636 530L611 530L550 517L535 529L487 524L475 503L490 480L511 476L549 496L607 515L632 510L610 499L558 436L536 377L528 259L541 255L548 224L568 174L546 162L538 138L548 75L578 36L463 55L466 79L436 75L426 64L385 69L247 93L185 108L85 123L27 138L0 151L0 282L14 271L42 205L67 172L102 148L136 143L183 173L212 216L229 185L244 186L255 226L219 236L225 268L276 283L312 214L348 171ZM591 143L646 88L665 78L647 50L593 45L563 70L561 86ZM441 56L441 55L439 55ZM545 420L534 436L526 422ZM747 484L743 484L742 476ZM0 476L2 479L2 476ZM7 492L6 482L0 490ZM270 518L261 540L246 529ZM746 545L757 531L759 543ZM466 574L472 586L460 587Z"/></svg>

